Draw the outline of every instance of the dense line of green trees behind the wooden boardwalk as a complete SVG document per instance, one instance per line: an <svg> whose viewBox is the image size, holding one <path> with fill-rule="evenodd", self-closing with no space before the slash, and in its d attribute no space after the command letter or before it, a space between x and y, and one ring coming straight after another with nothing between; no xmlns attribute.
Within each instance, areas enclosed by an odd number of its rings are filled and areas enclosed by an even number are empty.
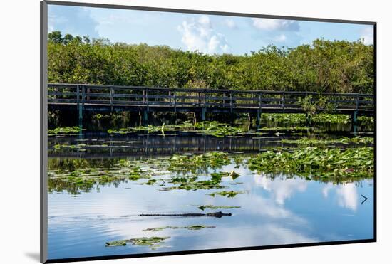
<svg viewBox="0 0 392 264"><path fill-rule="evenodd" d="M373 93L373 46L326 41L235 56L48 35L48 81L167 88Z"/></svg>

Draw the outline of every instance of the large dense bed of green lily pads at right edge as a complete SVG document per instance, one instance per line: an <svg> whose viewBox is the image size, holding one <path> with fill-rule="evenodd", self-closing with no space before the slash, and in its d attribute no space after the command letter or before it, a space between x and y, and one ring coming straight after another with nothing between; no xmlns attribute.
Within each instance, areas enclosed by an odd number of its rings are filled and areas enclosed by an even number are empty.
<svg viewBox="0 0 392 264"><path fill-rule="evenodd" d="M296 174L306 178L371 177L373 148L322 149L306 147L293 152L267 151L249 159L249 169L271 174Z"/></svg>

